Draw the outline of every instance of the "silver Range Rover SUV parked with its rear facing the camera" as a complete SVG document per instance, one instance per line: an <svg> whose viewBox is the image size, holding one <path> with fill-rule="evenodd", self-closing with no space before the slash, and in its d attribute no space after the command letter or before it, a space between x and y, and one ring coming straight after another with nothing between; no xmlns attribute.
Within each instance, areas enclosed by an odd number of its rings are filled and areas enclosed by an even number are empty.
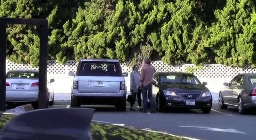
<svg viewBox="0 0 256 140"><path fill-rule="evenodd" d="M126 84L118 60L82 59L74 76L71 90L71 107L80 105L115 105L126 111Z"/></svg>

